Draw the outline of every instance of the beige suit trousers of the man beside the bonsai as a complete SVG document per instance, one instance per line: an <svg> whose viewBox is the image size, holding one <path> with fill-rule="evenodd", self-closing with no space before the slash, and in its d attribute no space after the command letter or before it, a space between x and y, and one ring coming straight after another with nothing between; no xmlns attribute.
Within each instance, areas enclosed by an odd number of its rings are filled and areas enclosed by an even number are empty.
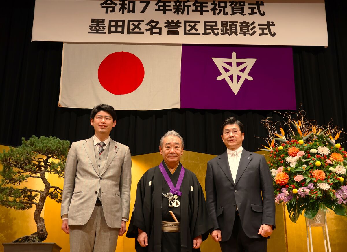
<svg viewBox="0 0 347 252"><path fill-rule="evenodd" d="M102 206L95 206L84 225L71 225L70 252L115 252L119 228L106 224Z"/></svg>

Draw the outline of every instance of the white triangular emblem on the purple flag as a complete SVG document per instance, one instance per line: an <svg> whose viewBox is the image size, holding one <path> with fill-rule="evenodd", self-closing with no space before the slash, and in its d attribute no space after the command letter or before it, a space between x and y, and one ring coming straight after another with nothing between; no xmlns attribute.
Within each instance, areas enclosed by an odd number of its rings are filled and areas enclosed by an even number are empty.
<svg viewBox="0 0 347 252"><path fill-rule="evenodd" d="M249 71L251 71L251 68L255 61L257 59L237 59L236 53L232 52L232 58L212 58L214 61L214 64L218 67L221 75L217 77L217 80L225 79L226 82L229 84L232 91L234 91L235 95L239 91L241 85L245 81L245 79L252 81L253 78L248 75ZM231 63L231 65L227 64ZM237 65L238 62L242 62L243 64ZM245 71L241 72L245 68ZM228 72L226 72L226 69ZM230 76L232 75L232 80ZM239 81L237 81L237 75L240 76Z"/></svg>

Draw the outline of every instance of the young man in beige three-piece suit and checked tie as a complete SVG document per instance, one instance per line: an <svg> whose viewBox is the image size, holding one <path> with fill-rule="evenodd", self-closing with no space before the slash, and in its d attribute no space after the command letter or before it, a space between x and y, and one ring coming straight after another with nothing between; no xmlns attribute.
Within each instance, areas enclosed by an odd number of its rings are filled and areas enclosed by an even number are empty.
<svg viewBox="0 0 347 252"><path fill-rule="evenodd" d="M70 251L114 252L129 218L129 147L110 138L116 112L95 106L90 123L95 135L71 145L65 164L61 229L70 233Z"/></svg>

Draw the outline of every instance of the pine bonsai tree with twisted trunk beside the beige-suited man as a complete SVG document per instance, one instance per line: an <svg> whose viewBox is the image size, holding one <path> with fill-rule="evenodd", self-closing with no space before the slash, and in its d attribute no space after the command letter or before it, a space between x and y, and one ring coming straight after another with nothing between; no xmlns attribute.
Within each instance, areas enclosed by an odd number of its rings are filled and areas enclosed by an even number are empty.
<svg viewBox="0 0 347 252"><path fill-rule="evenodd" d="M62 189L52 186L46 173L64 177L65 162L70 142L56 137L32 136L22 138L22 145L0 153L0 205L16 210L30 209L35 205L34 220L37 232L18 238L13 242L42 242L47 231L41 211L47 197L61 202ZM43 190L21 187L28 178L41 179ZM13 187L12 185L16 186Z"/></svg>

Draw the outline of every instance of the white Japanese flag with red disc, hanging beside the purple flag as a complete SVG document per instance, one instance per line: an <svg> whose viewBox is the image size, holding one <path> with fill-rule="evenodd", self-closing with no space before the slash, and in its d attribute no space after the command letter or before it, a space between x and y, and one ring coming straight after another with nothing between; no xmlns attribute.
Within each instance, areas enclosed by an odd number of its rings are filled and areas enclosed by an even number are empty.
<svg viewBox="0 0 347 252"><path fill-rule="evenodd" d="M64 43L59 106L180 108L181 45Z"/></svg>

